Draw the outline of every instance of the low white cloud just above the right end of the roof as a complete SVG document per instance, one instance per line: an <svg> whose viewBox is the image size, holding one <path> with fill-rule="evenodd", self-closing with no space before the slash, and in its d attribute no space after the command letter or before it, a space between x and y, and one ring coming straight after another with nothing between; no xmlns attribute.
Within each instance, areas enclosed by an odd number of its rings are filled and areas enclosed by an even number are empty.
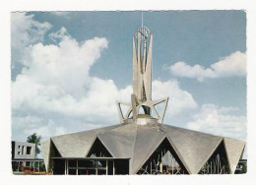
<svg viewBox="0 0 256 185"><path fill-rule="evenodd" d="M246 139L246 117L232 115L235 107L219 107L214 104L202 105L193 121L187 124L188 129L206 132L218 136Z"/></svg>

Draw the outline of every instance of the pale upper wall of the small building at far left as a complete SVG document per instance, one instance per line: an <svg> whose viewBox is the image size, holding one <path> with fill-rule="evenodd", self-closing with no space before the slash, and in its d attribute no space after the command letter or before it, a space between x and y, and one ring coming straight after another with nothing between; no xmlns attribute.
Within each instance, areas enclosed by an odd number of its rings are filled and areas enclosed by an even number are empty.
<svg viewBox="0 0 256 185"><path fill-rule="evenodd" d="M12 142L12 158L34 158L35 144L26 142Z"/></svg>

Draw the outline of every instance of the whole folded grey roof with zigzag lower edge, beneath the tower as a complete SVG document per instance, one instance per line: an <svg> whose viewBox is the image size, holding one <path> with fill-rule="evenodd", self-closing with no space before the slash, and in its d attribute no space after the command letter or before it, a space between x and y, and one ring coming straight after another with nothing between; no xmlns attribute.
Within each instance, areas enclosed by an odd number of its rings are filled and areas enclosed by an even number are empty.
<svg viewBox="0 0 256 185"><path fill-rule="evenodd" d="M118 124L101 129L52 137L62 157L85 157L96 138L113 157L131 158L131 174L135 174L167 138L189 173L198 173L215 152L223 137L191 131L163 124ZM237 143L238 142L238 143ZM230 163L238 162L244 143L225 140ZM45 152L46 153L46 152ZM233 155L234 154L234 155ZM46 158L45 158L46 159Z"/></svg>

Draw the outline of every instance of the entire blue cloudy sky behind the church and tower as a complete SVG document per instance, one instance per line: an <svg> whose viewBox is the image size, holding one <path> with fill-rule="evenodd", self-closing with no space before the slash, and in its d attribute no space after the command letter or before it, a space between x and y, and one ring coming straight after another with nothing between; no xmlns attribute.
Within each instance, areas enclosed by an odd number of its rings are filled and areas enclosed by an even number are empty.
<svg viewBox="0 0 256 185"><path fill-rule="evenodd" d="M13 12L12 140L119 124L142 12ZM143 12L164 124L246 141L246 13Z"/></svg>

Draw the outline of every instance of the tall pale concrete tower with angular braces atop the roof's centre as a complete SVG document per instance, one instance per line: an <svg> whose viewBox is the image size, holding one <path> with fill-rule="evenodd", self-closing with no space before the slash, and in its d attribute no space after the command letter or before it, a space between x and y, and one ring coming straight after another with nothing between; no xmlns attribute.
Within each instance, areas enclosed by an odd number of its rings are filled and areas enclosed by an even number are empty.
<svg viewBox="0 0 256 185"><path fill-rule="evenodd" d="M133 93L131 103L117 102L121 123L162 123L168 97L152 100L152 62L153 34L146 27L141 27L133 35ZM156 105L164 103L159 113ZM129 106L124 115L121 104ZM144 113L141 113L143 109ZM155 116L153 116L153 114Z"/></svg>

